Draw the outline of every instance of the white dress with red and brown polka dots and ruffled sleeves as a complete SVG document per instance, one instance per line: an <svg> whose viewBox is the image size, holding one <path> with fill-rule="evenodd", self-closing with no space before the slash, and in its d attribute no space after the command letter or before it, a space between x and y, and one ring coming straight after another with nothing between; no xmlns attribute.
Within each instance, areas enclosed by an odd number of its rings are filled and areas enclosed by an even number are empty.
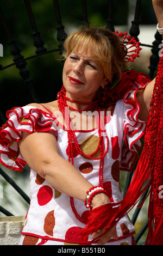
<svg viewBox="0 0 163 256"><path fill-rule="evenodd" d="M111 202L120 202L122 192L120 186L120 170L130 171L138 157L141 148L140 138L145 133L146 124L137 119L139 104L136 93L137 84L124 99L117 101L110 115L105 115L105 129L109 137L109 151L105 156L103 179L104 188ZM55 113L54 113L55 114ZM32 106L15 107L7 112L8 121L0 133L0 161L8 168L22 170L27 164L18 149L18 141L22 131L32 133L54 131L57 137L60 155L68 160L67 131L56 125L56 117L51 113ZM109 117L109 118L107 118ZM85 154L93 153L98 144L98 130L76 130L78 143ZM105 138L104 138L105 139ZM39 146L39 145L38 145ZM98 186L99 160L90 160L78 154L73 148L74 166L93 185ZM97 155L99 152L97 152ZM65 170L66 175L66 170ZM68 177L67 177L68 179ZM74 198L78 214L87 220L88 210L84 203ZM79 233L85 224L77 220L70 206L70 197L55 190L54 187L30 169L30 206L23 223L22 235L38 237L42 243L47 240L64 243L86 244ZM128 216L124 216L116 225L120 241L135 233L133 224ZM91 240L91 236L89 239ZM114 241L111 239L109 242ZM109 244L109 243L108 243Z"/></svg>

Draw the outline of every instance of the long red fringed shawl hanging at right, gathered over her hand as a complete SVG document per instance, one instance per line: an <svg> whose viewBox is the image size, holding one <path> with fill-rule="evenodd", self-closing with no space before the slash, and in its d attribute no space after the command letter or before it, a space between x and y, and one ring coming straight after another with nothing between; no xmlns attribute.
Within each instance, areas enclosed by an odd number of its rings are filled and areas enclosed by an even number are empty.
<svg viewBox="0 0 163 256"><path fill-rule="evenodd" d="M160 58L151 107L148 115L145 145L137 164L126 196L119 203L106 204L90 211L89 221L81 235L105 228L108 232L126 213L128 213L151 185L148 208L148 236L146 245L163 245L163 199L160 186L163 185L163 58ZM163 193L162 193L163 195ZM98 240L99 237L96 240Z"/></svg>

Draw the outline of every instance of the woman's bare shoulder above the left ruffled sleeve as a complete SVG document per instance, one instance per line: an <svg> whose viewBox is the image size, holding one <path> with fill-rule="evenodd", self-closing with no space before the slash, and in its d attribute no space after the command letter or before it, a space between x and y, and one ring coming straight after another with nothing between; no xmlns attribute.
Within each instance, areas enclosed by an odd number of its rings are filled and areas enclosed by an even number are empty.
<svg viewBox="0 0 163 256"><path fill-rule="evenodd" d="M42 109L43 111L45 111L47 113L49 113L49 112L53 113L54 111L59 110L57 100L47 102L47 103L30 103L26 106L36 107L36 108Z"/></svg>

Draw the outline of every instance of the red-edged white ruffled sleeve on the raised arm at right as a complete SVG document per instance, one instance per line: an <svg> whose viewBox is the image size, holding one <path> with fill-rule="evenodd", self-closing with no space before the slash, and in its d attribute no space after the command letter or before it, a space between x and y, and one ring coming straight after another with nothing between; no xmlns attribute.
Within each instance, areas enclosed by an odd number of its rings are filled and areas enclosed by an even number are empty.
<svg viewBox="0 0 163 256"><path fill-rule="evenodd" d="M149 82L151 82L151 78L140 73L134 81L134 86L123 97L125 121L121 170L131 172L137 159L139 159L138 151L142 148L140 139L145 135L146 122L137 118L140 112L140 105L136 95L145 89Z"/></svg>

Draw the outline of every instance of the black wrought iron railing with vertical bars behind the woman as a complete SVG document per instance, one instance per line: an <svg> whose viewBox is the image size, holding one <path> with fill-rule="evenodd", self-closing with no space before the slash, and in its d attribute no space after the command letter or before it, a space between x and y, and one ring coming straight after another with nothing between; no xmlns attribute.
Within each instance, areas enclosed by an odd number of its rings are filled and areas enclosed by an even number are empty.
<svg viewBox="0 0 163 256"><path fill-rule="evenodd" d="M4 2L4 3L3 3ZM17 6L19 1L17 1ZM49 1L48 1L49 2ZM7 1L2 1L0 3L0 22L1 22L1 26L3 27L3 32L1 31L1 37L0 37L0 43L1 43L1 38L5 38L7 37L8 40L8 45L10 48L10 54L11 56L13 56L12 62L8 63L8 64L0 64L0 76L2 74L2 72L4 70L9 70L11 67L15 66L15 68L17 68L20 72L20 76L23 79L22 82L22 87L25 87L28 92L30 93L30 99L33 102L37 102L39 103L39 97L37 95L37 93L35 92L35 83L33 83L33 80L31 78L31 74L29 71L29 68L27 67L27 63L30 62L30 60L34 59L34 58L39 58L41 56L46 56L47 54L52 54L54 52L59 52L61 53L61 49L62 49L62 44L66 38L66 32L65 32L65 27L62 25L62 17L61 17L61 9L60 9L60 1L58 0L51 0L51 2L53 2L53 8L54 8L54 16L55 16L55 20L56 20L56 26L55 29L57 31L57 40L58 40L58 47L56 48L51 48L48 49L45 46L45 42L43 41L42 37L41 37L41 33L39 32L39 29L37 28L37 20L35 19L35 13L32 10L32 3L33 1L29 1L29 0L24 0L24 7L26 8L27 14L28 14L28 19L30 22L30 26L32 28L32 36L33 36L33 46L35 47L35 53L34 54L29 54L28 56L23 56L22 51L20 49L20 47L17 44L17 41L15 40L15 35L12 33L12 26L11 23L8 23L8 15L7 13L4 14L3 8L4 8L4 4L5 4L5 10L8 8L10 8L10 0ZM81 16L82 16L82 20L81 20L81 25L90 26L90 22L89 22L89 12L87 10L87 3L89 2L89 0L80 0L78 1L78 9L80 9L81 12ZM92 5L97 4L97 1L91 1ZM115 21L114 21L114 11L115 11L115 4L118 3L117 1L113 1L113 0L108 0L108 1L101 1L104 2L104 5L107 6L108 10L108 17L106 17L105 19L105 27L110 29L112 32L115 31ZM116 2L116 3L115 3ZM122 1L119 1L119 3ZM124 1L124 2L128 2L128 1ZM129 34L135 38L139 37L140 34L140 18L141 18L141 4L142 4L143 0L135 0L135 14L133 17L133 20L131 21L131 26L129 29ZM147 1L148 2L148 1ZM22 3L22 2L21 2ZM45 3L46 4L46 1ZM73 8L73 1L71 3L71 0L68 1L68 4L72 4L72 8ZM147 3L148 4L148 3ZM63 8L63 5L62 5ZM98 9L98 4L97 7ZM38 15L38 14L37 14ZM16 19L17 17L15 17ZM53 17L49 17L49 19L52 19ZM42 19L42 17L40 18ZM20 21L17 21L20 22ZM123 23L123 21L122 21ZM11 27L11 28L10 28ZM54 26L52 25L52 27L54 28ZM23 32L24 33L24 32ZM29 35L30 36L30 35ZM157 69L158 66L158 62L159 62L159 45L161 44L161 36L158 32L155 32L155 40L153 41L152 45L148 45L148 44L143 44L142 42L142 46L146 46L151 48L152 54L150 57L150 64L149 64L149 76L151 78L154 77L155 71ZM0 59L1 62L1 59ZM37 67L36 67L37 68ZM57 75L57 74L56 74ZM7 88L6 88L7 90ZM58 92L58 88L56 88L56 95ZM3 101L4 95L1 95L1 101ZM30 100L30 101L31 101ZM13 106L17 105L17 102L15 102L13 100ZM29 103L29 102L28 102ZM2 126L2 124L5 123L5 108L0 109L0 125ZM134 172L134 170L133 170ZM130 181L132 179L132 173L129 173L127 175L127 180L126 180L126 186L124 188L124 194L127 191L127 188L130 184ZM2 170L2 168L0 168L0 174L3 176L3 178L5 180L7 180L7 182L9 182L9 184L15 188L15 190L21 194L21 196L23 197L24 200L26 200L26 202L29 204L30 203L30 199L29 197L21 190L20 187L18 187L16 185L16 183L14 182L14 180L12 180L7 173L4 172L4 170ZM148 192L148 191L147 191ZM146 192L146 194L147 194ZM146 194L144 195L144 197L146 197ZM143 199L141 199L143 200ZM137 220L137 216L140 213L140 208L137 207L135 210L135 213L133 215L133 219L132 222L135 224L136 220ZM8 210L4 209L2 206L0 206L0 211L3 212L3 214L10 216L12 215L12 213L10 213ZM141 238L141 236L143 235L143 233L145 233L146 229L147 229L147 222L145 223L145 225L143 225L142 229L140 230L139 234L137 234L137 236L135 237L136 242L138 242Z"/></svg>

